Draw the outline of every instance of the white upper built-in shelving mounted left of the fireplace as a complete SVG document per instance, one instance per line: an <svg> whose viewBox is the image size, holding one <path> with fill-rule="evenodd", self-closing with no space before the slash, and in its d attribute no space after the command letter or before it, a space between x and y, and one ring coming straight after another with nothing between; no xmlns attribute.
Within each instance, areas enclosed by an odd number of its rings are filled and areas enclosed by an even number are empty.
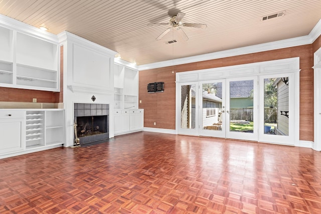
<svg viewBox="0 0 321 214"><path fill-rule="evenodd" d="M10 22L0 23L0 87L59 91L57 38L36 28L16 30Z"/></svg>

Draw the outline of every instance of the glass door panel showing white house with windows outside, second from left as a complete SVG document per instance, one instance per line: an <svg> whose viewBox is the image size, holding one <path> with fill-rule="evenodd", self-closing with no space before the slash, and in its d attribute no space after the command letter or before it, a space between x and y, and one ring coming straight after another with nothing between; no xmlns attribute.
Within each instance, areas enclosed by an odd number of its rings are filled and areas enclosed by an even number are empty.
<svg viewBox="0 0 321 214"><path fill-rule="evenodd" d="M200 135L225 137L225 80L200 83Z"/></svg>

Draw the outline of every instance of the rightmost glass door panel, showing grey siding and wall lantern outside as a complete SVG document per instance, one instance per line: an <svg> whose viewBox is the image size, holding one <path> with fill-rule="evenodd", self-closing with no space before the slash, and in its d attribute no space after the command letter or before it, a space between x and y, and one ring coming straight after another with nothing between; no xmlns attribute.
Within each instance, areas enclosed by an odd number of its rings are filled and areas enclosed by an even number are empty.
<svg viewBox="0 0 321 214"><path fill-rule="evenodd" d="M294 144L293 74L276 74L260 77L261 123L260 141ZM263 108L264 107L264 108Z"/></svg>

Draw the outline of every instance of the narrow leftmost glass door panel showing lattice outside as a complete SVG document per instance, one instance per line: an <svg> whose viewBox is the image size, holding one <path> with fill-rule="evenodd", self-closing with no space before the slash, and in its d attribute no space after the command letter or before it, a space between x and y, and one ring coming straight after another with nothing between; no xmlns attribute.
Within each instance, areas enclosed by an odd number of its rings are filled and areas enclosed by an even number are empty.
<svg viewBox="0 0 321 214"><path fill-rule="evenodd" d="M179 86L180 126L179 134L198 135L198 83L184 83Z"/></svg>

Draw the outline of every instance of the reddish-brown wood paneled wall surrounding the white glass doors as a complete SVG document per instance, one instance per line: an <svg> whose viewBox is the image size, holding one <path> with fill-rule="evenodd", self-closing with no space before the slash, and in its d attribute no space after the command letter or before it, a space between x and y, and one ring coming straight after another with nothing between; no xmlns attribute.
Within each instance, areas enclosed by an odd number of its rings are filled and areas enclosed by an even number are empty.
<svg viewBox="0 0 321 214"><path fill-rule="evenodd" d="M141 100L139 108L144 109L144 127L175 129L176 85L173 69L175 72L193 71L292 57L300 57L300 140L313 141L312 44L139 71L138 99ZM165 91L148 94L147 84L150 82L165 82ZM153 125L154 122L156 125Z"/></svg>

